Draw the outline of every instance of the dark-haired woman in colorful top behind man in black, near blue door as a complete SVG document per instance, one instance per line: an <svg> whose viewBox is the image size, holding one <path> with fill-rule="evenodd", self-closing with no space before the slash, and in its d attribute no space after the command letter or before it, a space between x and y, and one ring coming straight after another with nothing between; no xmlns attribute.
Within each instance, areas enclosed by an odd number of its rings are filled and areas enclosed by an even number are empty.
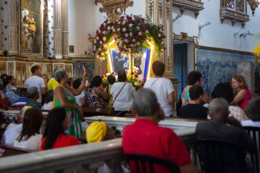
<svg viewBox="0 0 260 173"><path fill-rule="evenodd" d="M201 75L201 73L198 72L198 71L191 71L187 75L187 86L183 89L183 93L181 94L182 106L185 106L185 105L190 103L190 96L189 96L190 88L193 85L200 85L200 86L203 85L202 77L203 77L203 75ZM209 101L210 101L209 94L204 92L204 94L203 94L203 102L204 103L209 103Z"/></svg>

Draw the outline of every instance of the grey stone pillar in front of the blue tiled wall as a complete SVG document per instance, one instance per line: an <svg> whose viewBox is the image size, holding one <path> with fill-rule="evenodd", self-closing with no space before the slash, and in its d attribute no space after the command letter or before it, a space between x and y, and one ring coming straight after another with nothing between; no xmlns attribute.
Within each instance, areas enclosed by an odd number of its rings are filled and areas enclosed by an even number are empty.
<svg viewBox="0 0 260 173"><path fill-rule="evenodd" d="M252 62L237 62L237 74L244 77L251 94L255 94L255 65Z"/></svg>

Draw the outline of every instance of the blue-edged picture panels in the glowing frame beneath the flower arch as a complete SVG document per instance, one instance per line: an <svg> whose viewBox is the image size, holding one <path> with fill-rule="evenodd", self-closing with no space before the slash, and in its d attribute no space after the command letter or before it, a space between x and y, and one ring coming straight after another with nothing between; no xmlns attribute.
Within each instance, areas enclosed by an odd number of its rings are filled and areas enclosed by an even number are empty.
<svg viewBox="0 0 260 173"><path fill-rule="evenodd" d="M111 49L111 59L112 59L112 70L118 72L119 70L129 70L129 57L123 57L115 47ZM133 57L133 66L138 70L138 74L146 78L148 73L148 64L150 62L150 49L144 49L142 57Z"/></svg>

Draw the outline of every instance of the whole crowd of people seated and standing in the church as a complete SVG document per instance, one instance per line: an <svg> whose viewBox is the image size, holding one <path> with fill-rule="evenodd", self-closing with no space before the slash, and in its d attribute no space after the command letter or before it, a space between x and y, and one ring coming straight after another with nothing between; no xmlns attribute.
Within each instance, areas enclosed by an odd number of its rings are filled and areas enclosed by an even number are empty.
<svg viewBox="0 0 260 173"><path fill-rule="evenodd" d="M116 116L129 113L136 117L133 124L124 128L124 153L151 155L172 161L181 172L198 172L181 139L171 129L158 126L165 117L174 116L172 103L176 96L172 81L164 77L165 68L163 62L153 62L155 77L138 91L127 81L125 70L119 70L118 82L114 75L109 75L109 85L103 88L99 76L88 83L86 70L81 79L73 79L65 69L57 69L46 82L41 77L46 75L34 66L33 75L25 81L26 94L19 93L14 77L1 75L0 107L21 109L16 123L9 124L3 133L1 144L49 150L79 145L79 138L85 132L88 143L114 139L114 131L104 122L93 122L88 127L82 124L82 106L114 107ZM260 127L260 98L252 98L241 75L233 77L231 83L218 83L209 96L203 90L201 73L192 71L187 75L181 103L179 117L205 120L197 124L196 139L232 141L247 152L256 152L255 143L242 126ZM47 118L41 109L49 111ZM106 165L99 171L105 169ZM155 169L167 172L160 167ZM118 170L125 168L121 166Z"/></svg>

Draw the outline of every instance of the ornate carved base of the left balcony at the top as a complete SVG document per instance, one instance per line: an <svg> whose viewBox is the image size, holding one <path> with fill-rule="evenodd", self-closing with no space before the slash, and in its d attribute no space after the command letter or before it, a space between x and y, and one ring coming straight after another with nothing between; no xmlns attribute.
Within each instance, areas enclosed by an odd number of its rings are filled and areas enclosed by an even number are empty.
<svg viewBox="0 0 260 173"><path fill-rule="evenodd" d="M172 0L172 5L180 8L181 14L187 9L194 11L195 18L199 12L203 10L203 2L201 0Z"/></svg>

